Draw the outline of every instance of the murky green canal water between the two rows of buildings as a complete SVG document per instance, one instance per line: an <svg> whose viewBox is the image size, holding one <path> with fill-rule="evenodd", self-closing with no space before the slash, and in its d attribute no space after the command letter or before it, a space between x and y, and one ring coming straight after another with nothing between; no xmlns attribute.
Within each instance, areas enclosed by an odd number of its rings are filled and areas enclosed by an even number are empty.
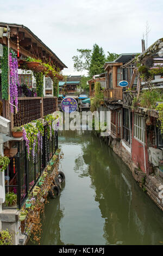
<svg viewBox="0 0 163 256"><path fill-rule="evenodd" d="M41 245L163 245L163 213L107 145L89 131L63 131L59 144L66 182Z"/></svg>

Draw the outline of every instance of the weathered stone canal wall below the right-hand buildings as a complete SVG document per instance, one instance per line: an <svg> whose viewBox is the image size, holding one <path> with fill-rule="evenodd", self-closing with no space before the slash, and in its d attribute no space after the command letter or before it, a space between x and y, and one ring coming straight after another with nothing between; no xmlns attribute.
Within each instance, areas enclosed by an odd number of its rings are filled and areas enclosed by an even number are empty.
<svg viewBox="0 0 163 256"><path fill-rule="evenodd" d="M112 150L121 157L122 161L127 164L131 173L143 189L144 192L153 200L153 202L163 211L163 179L161 176L152 174L145 174L140 168L137 168L136 164L131 158L131 154L122 145L122 140L117 141L113 139L110 143Z"/></svg>

